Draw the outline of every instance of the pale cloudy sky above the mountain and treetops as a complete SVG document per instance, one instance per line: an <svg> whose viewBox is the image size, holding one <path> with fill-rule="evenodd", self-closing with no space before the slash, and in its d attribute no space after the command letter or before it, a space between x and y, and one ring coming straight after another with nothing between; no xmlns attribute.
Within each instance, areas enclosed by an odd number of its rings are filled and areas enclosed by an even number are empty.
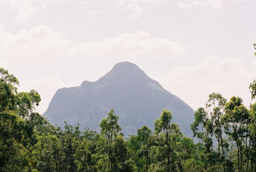
<svg viewBox="0 0 256 172"><path fill-rule="evenodd" d="M194 110L256 79L255 0L1 0L0 67L37 90L96 81L130 61Z"/></svg>

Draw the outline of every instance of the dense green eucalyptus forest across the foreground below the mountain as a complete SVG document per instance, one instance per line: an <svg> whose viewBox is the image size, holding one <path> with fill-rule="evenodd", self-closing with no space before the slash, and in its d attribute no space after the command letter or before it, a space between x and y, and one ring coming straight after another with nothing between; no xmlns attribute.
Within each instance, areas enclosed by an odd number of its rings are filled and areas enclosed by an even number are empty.
<svg viewBox="0 0 256 172"><path fill-rule="evenodd" d="M18 79L3 68L0 74L0 171L256 172L256 103L247 109L240 97L227 101L213 92L195 111L196 141L172 123L167 109L154 131L142 126L126 138L113 109L100 121L100 133L51 125L35 112L38 92L18 93ZM255 99L256 81L250 92Z"/></svg>

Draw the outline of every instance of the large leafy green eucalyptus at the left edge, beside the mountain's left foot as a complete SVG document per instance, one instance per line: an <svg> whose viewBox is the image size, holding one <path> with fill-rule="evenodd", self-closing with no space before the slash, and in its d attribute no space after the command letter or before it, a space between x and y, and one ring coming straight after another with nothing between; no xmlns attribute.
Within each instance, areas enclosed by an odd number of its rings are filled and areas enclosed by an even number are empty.
<svg viewBox="0 0 256 172"><path fill-rule="evenodd" d="M29 147L35 145L34 126L43 117L34 112L40 102L37 91L18 93L18 79L0 68L0 169L31 170Z"/></svg>

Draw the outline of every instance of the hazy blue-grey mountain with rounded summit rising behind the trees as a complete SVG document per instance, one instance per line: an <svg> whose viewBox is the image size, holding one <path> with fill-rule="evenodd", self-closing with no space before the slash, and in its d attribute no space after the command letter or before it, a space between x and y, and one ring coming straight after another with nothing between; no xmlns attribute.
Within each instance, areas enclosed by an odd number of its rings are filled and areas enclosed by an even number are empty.
<svg viewBox="0 0 256 172"><path fill-rule="evenodd" d="M178 123L185 135L192 136L194 110L130 62L116 64L95 82L83 81L81 86L60 88L43 115L59 126L67 121L74 126L79 123L82 130L88 126L99 131L99 122L111 108L119 116L125 135L136 133L143 125L153 129L155 118L163 108L168 108L173 114L172 121Z"/></svg>

